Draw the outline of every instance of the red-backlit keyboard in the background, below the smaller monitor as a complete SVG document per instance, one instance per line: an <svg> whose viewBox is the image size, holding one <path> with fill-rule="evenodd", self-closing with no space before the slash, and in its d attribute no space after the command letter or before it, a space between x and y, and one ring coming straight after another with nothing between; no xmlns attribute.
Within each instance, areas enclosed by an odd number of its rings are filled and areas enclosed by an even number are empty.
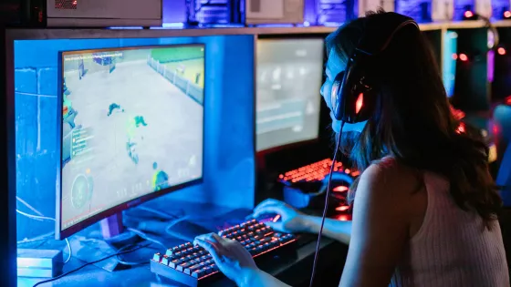
<svg viewBox="0 0 511 287"><path fill-rule="evenodd" d="M332 167L332 159L323 159L315 163L311 163L299 169L293 169L286 173L280 174L278 179L286 182L299 182L299 181L317 181L325 179L330 173ZM350 170L343 167L342 162L336 161L334 165L334 172L344 172L353 178L360 175L358 170Z"/></svg>

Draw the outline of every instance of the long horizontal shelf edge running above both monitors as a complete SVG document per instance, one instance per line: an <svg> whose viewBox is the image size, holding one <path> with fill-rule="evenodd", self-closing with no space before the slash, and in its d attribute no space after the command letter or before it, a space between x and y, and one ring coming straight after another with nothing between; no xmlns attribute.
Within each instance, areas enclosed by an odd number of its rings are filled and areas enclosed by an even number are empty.
<svg viewBox="0 0 511 287"><path fill-rule="evenodd" d="M495 27L511 27L511 20L496 21ZM460 21L419 25L422 31L443 29L474 29L486 26L484 21ZM232 28L154 28L154 29L57 29L57 28L8 28L7 36L12 40L57 39L57 38L110 38L110 37L172 37L172 36L222 36L222 35L326 35L336 30L330 26L266 26Z"/></svg>

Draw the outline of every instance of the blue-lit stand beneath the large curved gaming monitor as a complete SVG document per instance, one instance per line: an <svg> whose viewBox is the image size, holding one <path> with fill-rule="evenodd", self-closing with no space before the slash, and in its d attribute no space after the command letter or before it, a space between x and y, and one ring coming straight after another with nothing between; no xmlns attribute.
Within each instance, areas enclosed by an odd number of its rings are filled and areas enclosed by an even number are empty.
<svg viewBox="0 0 511 287"><path fill-rule="evenodd" d="M106 258L119 252L120 248L135 246L142 239L131 231L125 231L122 225L122 213L117 213L109 218L99 221L101 226L102 238L87 239L87 242L74 242L73 254L79 260L91 262ZM148 261L150 259L148 258ZM95 266L108 272L128 268L117 260L117 256L112 256L105 261L94 263Z"/></svg>

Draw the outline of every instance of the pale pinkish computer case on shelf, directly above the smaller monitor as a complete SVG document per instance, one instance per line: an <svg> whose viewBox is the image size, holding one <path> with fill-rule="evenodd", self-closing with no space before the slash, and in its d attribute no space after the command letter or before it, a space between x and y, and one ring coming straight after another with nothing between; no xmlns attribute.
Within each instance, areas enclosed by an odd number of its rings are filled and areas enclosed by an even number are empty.
<svg viewBox="0 0 511 287"><path fill-rule="evenodd" d="M302 24L304 0L245 0L245 24Z"/></svg>

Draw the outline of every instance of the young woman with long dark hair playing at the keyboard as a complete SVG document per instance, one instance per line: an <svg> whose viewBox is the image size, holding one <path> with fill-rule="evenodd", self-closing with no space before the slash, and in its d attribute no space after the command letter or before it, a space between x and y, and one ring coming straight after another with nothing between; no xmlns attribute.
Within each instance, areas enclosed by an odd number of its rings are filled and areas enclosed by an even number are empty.
<svg viewBox="0 0 511 287"><path fill-rule="evenodd" d="M367 15L328 36L321 93L330 109L334 78L369 33L368 21L384 26L388 16ZM367 68L380 83L376 108L343 129L356 135L350 158L363 171L350 189L353 220L326 220L323 230L349 243L339 286L508 287L496 218L502 200L485 146L457 130L428 43L417 27L403 27ZM340 126L332 114L336 133ZM321 224L277 200L257 206L255 216L261 213L282 216L273 224L278 231L318 232ZM287 286L260 271L236 241L207 234L195 242L238 286Z"/></svg>

